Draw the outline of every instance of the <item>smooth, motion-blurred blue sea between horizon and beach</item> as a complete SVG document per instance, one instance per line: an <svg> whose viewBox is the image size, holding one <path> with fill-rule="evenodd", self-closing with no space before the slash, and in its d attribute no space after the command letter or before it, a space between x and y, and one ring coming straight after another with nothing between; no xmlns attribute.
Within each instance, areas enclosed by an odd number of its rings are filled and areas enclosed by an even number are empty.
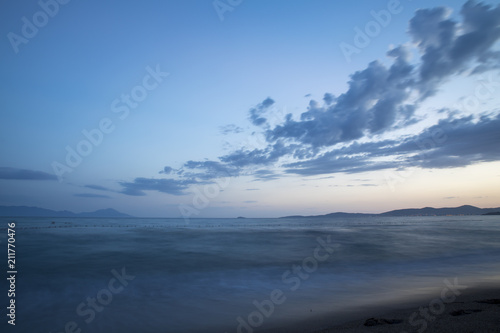
<svg viewBox="0 0 500 333"><path fill-rule="evenodd" d="M500 285L499 216L2 218L3 247L10 221L16 332L273 331L444 279Z"/></svg>

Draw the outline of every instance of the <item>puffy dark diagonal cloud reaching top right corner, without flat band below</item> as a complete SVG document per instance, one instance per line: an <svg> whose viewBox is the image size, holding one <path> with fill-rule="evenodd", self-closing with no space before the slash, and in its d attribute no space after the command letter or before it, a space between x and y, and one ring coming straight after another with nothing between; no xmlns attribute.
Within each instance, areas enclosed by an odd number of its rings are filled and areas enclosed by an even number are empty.
<svg viewBox="0 0 500 333"><path fill-rule="evenodd" d="M414 124L418 100L433 95L440 84L467 68L481 70L498 66L492 47L500 39L500 5L468 1L460 12L462 22L449 19L446 8L422 9L410 21L409 33L420 49L420 63L410 63L405 46L390 50L393 63L379 61L351 75L348 90L334 98L326 94L324 104L311 101L300 120L288 115L269 129L267 139L293 141L312 147L331 147L373 134ZM491 66L490 66L491 65Z"/></svg>

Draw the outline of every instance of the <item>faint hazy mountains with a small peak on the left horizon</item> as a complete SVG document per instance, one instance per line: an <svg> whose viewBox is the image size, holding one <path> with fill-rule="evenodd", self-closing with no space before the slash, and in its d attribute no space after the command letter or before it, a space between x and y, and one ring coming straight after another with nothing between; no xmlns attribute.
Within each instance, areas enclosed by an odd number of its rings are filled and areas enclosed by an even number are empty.
<svg viewBox="0 0 500 333"><path fill-rule="evenodd" d="M95 212L73 213L67 210L56 211L28 206L0 206L0 216L6 217L133 217L112 208L99 209Z"/></svg>

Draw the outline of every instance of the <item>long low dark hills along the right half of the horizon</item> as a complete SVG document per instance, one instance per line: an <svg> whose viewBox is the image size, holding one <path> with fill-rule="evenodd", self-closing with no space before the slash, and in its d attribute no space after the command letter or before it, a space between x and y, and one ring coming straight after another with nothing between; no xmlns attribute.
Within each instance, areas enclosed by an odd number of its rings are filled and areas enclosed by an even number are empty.
<svg viewBox="0 0 500 333"><path fill-rule="evenodd" d="M407 209L397 209L391 210L389 212L380 214L362 214L362 213L330 213L325 215L293 215L285 216L282 218L294 218L294 217L362 217L362 216L446 216L446 215L497 215L500 214L500 207L498 208L478 208L470 205L464 205L460 207L446 207L446 208L407 208Z"/></svg>

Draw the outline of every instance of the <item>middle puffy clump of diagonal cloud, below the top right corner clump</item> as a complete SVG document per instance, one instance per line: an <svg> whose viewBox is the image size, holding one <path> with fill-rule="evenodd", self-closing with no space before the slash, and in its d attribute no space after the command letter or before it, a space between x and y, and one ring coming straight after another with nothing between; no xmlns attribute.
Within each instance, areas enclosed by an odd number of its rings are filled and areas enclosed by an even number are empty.
<svg viewBox="0 0 500 333"><path fill-rule="evenodd" d="M394 58L391 67L371 62L366 69L351 75L346 93L338 98L325 95L323 105L311 101L300 120L288 115L283 124L266 132L268 141L329 147L383 133L398 122L411 119L415 107L405 101L415 83L409 76L413 66L407 62L408 51L400 46L391 50L389 56Z"/></svg>

